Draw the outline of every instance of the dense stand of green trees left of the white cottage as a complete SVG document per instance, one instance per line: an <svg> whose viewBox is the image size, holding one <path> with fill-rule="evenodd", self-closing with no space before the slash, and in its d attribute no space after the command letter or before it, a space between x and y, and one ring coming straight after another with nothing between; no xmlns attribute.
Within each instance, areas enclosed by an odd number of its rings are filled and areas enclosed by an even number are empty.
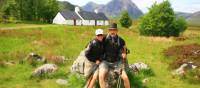
<svg viewBox="0 0 200 88"><path fill-rule="evenodd" d="M0 9L7 20L22 20L51 23L59 11L57 0L5 0ZM1 18L0 17L0 18ZM0 19L1 20L1 19Z"/></svg>

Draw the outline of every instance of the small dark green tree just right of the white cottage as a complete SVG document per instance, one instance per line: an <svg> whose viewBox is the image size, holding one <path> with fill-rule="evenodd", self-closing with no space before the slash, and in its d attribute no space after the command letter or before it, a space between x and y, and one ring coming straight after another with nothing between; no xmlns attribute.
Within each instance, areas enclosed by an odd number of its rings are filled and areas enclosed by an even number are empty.
<svg viewBox="0 0 200 88"><path fill-rule="evenodd" d="M122 27L129 28L132 25L132 19L130 18L128 11L122 12L120 18L120 24Z"/></svg>

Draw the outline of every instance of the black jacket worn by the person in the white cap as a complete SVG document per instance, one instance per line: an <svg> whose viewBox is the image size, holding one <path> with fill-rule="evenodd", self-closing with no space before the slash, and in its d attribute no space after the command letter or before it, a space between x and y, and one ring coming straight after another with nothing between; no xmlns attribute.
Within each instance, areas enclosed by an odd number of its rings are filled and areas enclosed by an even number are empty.
<svg viewBox="0 0 200 88"><path fill-rule="evenodd" d="M104 54L103 42L93 39L87 46L85 56L89 61L96 62L96 60L102 60Z"/></svg>

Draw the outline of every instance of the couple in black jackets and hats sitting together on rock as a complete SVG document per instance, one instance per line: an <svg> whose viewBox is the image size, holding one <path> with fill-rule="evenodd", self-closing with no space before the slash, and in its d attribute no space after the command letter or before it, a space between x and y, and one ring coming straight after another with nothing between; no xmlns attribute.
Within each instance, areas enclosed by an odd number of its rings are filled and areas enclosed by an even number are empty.
<svg viewBox="0 0 200 88"><path fill-rule="evenodd" d="M85 56L95 64L91 76L87 79L86 88L93 88L96 80L99 80L101 88L106 88L106 77L109 70L119 70L125 88L130 88L130 82L125 72L126 59L125 41L118 35L117 24L113 23L104 35L102 29L97 29L96 37L86 48ZM91 69L92 69L91 68Z"/></svg>

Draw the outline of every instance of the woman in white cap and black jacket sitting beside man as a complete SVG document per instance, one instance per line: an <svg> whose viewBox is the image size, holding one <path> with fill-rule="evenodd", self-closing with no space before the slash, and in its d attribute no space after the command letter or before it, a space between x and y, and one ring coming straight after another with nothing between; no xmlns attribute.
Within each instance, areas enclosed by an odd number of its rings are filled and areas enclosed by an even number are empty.
<svg viewBox="0 0 200 88"><path fill-rule="evenodd" d="M98 78L98 65L100 64L104 54L103 30L97 29L95 34L95 39L89 43L87 50L85 51L85 56L88 58L88 60L92 63L96 63L90 70L89 74L91 74L91 76L88 79L87 88L93 88Z"/></svg>

